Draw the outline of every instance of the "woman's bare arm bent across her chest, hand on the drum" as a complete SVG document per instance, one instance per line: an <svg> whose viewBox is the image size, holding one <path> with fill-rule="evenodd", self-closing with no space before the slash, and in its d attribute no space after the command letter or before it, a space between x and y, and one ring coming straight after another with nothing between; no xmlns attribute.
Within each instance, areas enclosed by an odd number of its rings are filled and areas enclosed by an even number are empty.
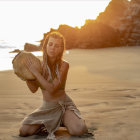
<svg viewBox="0 0 140 140"><path fill-rule="evenodd" d="M67 73L69 69L69 64L67 62L63 62L60 68L60 81L58 78L55 78L52 83L49 83L42 75L39 73L30 59L27 60L26 63L29 70L36 77L37 81L40 83L40 87L43 90L47 90L49 93L53 94L55 91L65 83L67 78Z"/></svg>

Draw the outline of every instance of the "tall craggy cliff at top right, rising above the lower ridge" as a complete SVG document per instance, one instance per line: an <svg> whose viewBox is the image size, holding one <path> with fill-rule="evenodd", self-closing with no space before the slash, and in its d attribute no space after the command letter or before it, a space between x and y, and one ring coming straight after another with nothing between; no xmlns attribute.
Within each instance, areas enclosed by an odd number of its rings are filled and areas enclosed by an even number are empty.
<svg viewBox="0 0 140 140"><path fill-rule="evenodd" d="M97 21L119 30L122 45L140 45L140 0L112 0Z"/></svg>

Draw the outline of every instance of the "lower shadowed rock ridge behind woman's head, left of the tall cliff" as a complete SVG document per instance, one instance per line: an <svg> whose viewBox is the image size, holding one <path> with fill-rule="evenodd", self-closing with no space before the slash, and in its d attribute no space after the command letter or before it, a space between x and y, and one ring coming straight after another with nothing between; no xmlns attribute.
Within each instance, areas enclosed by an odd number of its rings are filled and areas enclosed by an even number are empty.
<svg viewBox="0 0 140 140"><path fill-rule="evenodd" d="M119 32L95 20L86 20L80 29L68 25L60 25L58 29L50 30L50 32L52 31L58 31L63 34L66 41L66 49L93 49L120 46ZM48 33L44 34L44 38ZM43 45L44 38L41 41L41 46Z"/></svg>

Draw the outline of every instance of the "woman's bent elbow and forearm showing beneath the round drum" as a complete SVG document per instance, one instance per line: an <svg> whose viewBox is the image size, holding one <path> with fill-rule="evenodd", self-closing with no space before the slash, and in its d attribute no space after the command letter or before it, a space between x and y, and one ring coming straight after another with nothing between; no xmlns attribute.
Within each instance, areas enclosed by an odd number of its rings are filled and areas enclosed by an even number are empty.
<svg viewBox="0 0 140 140"><path fill-rule="evenodd" d="M26 80L26 84L32 93L35 93L39 88L36 80Z"/></svg>

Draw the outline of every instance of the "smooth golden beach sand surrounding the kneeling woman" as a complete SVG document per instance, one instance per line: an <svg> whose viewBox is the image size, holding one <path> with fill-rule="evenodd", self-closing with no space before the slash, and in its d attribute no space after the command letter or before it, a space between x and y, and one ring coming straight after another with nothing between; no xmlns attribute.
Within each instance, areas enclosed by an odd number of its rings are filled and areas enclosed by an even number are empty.
<svg viewBox="0 0 140 140"><path fill-rule="evenodd" d="M66 93L73 99L88 130L94 134L68 140L140 139L140 47L70 50ZM0 140L43 140L46 136L19 137L22 119L42 103L41 91L32 94L13 71L0 72Z"/></svg>

